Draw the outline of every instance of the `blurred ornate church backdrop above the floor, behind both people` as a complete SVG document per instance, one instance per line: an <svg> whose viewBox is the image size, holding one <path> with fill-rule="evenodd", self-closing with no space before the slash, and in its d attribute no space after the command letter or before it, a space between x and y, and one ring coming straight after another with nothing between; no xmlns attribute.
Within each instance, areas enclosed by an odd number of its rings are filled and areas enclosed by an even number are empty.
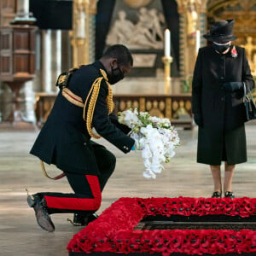
<svg viewBox="0 0 256 256"><path fill-rule="evenodd" d="M202 35L214 20L236 20L236 44L245 47L255 75L254 12L254 1L234 0L3 0L0 120L43 125L61 72L99 59L111 44L125 44L135 61L129 76L113 87L116 112L139 108L191 129L195 58L207 44Z"/></svg>

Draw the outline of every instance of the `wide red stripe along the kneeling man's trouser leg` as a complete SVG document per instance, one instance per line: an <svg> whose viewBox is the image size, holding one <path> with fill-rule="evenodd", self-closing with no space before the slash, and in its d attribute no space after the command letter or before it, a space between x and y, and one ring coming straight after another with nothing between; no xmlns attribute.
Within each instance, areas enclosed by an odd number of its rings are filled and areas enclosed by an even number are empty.
<svg viewBox="0 0 256 256"><path fill-rule="evenodd" d="M55 209L68 209L80 211L96 211L102 202L102 191L98 177L95 175L85 175L90 184L90 189L94 198L70 198L54 197L45 195L47 207Z"/></svg>

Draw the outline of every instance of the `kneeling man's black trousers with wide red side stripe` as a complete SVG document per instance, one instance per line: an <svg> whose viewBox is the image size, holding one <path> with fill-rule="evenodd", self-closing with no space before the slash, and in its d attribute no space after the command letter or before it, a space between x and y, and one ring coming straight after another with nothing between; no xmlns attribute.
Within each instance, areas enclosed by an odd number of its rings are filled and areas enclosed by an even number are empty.
<svg viewBox="0 0 256 256"><path fill-rule="evenodd" d="M102 190L113 173L116 159L107 148L100 144L91 143L91 148L96 157L97 166L94 168L98 169L100 175L86 175L85 171L74 173L62 170L66 173L67 181L74 193L39 193L44 196L49 213L96 212L100 207Z"/></svg>

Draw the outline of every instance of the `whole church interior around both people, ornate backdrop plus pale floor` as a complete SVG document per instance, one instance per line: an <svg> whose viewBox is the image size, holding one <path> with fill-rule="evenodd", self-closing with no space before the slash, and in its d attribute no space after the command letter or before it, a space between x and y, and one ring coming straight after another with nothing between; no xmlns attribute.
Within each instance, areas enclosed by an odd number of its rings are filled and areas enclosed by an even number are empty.
<svg viewBox="0 0 256 256"><path fill-rule="evenodd" d="M102 141L118 163L98 213L119 197L211 194L210 172L195 161L191 86L198 49L208 44L203 35L215 21L229 19L236 21L235 44L245 48L255 79L256 0L1 0L0 254L67 255L68 241L82 230L63 214L54 217L55 234L39 230L25 188L61 192L68 187L67 181L44 179L28 152L55 102L59 74L98 60L112 44L125 44L134 60L131 73L113 86L115 113L137 108L168 118L182 146L151 183L141 177L138 155L125 158ZM237 197L256 197L255 124L246 125L248 162L234 177Z"/></svg>

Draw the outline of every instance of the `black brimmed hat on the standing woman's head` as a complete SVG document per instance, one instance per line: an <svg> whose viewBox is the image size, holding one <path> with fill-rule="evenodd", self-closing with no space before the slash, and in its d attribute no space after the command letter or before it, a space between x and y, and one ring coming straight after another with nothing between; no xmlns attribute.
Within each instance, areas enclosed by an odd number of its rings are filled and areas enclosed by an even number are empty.
<svg viewBox="0 0 256 256"><path fill-rule="evenodd" d="M236 40L236 36L232 34L234 23L235 20L218 20L203 37L217 43Z"/></svg>

